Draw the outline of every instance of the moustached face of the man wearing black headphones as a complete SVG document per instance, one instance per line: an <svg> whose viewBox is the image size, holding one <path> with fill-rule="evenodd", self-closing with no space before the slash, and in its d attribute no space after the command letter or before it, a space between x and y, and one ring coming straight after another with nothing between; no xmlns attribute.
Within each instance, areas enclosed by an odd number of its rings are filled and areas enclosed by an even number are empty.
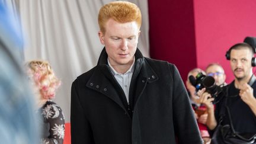
<svg viewBox="0 0 256 144"><path fill-rule="evenodd" d="M242 79L247 79L251 76L252 66L251 66L252 54L249 49L233 49L231 50L231 68L233 75L238 81Z"/></svg>

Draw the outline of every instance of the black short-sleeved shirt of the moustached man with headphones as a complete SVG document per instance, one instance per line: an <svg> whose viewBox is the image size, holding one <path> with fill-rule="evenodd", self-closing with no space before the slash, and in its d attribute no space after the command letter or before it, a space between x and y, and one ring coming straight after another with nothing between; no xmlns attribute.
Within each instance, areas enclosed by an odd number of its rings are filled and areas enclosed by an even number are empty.
<svg viewBox="0 0 256 144"><path fill-rule="evenodd" d="M256 96L256 82L251 86L254 89L254 97ZM242 101L239 96L239 89L235 88L235 82L227 85L222 92L222 95L218 97L219 103L216 104L215 117L219 121L219 113L222 105L226 104L231 112L233 126L236 132L239 133L256 133L256 116L252 112L251 108ZM225 107L223 107L225 108ZM225 116L223 117L222 124L229 124L228 112L225 108Z"/></svg>

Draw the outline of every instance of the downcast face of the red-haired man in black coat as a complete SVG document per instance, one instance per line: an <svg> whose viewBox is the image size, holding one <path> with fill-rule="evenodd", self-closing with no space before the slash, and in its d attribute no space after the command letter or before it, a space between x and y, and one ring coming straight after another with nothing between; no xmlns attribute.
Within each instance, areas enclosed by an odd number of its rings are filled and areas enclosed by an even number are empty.
<svg viewBox="0 0 256 144"><path fill-rule="evenodd" d="M110 18L105 24L105 34L99 32L112 66L132 65L140 30L135 21L118 23Z"/></svg>

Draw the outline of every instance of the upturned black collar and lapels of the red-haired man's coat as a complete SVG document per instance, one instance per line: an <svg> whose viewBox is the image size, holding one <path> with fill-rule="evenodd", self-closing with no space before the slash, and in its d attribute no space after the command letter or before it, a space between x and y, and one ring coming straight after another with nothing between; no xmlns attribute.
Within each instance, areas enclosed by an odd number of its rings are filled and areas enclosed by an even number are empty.
<svg viewBox="0 0 256 144"><path fill-rule="evenodd" d="M124 92L110 71L107 64L107 57L107 52L104 48L101 52L97 66L95 67L95 71L87 82L87 87L107 95L107 97L111 98L126 111L125 107L127 105L124 105L122 102L126 100L121 100L119 97L119 95L124 95ZM132 82L136 82L136 80L139 79L142 80L140 84L141 87L158 79L158 76L145 59L148 58L143 57L142 53L137 49L135 53L135 70L133 71ZM143 92L143 89L140 89L140 91L139 94Z"/></svg>

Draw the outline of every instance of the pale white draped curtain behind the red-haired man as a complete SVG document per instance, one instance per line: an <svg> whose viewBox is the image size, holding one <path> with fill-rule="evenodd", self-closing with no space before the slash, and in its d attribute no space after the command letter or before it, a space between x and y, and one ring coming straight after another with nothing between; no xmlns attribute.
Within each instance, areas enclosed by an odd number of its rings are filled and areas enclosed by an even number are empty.
<svg viewBox="0 0 256 144"><path fill-rule="evenodd" d="M25 37L24 60L48 60L62 86L54 101L69 122L71 84L97 64L103 45L98 39L98 11L110 0L16 0ZM138 47L149 56L148 1L130 1L142 11Z"/></svg>

